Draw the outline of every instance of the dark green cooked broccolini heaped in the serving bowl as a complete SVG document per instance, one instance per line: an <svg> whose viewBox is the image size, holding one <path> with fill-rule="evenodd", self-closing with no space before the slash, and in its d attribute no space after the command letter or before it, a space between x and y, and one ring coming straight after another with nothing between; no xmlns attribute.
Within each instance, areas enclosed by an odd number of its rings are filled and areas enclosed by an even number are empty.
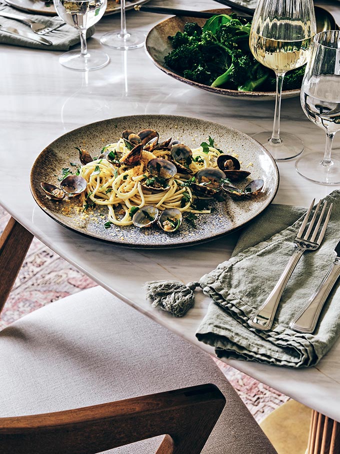
<svg viewBox="0 0 340 454"><path fill-rule="evenodd" d="M201 28L186 23L183 32L169 37L172 51L164 63L186 79L238 91L275 91L275 74L262 66L249 49L251 23L235 14L216 15ZM298 89L304 68L290 71L283 90ZM211 146L211 145L210 145Z"/></svg>

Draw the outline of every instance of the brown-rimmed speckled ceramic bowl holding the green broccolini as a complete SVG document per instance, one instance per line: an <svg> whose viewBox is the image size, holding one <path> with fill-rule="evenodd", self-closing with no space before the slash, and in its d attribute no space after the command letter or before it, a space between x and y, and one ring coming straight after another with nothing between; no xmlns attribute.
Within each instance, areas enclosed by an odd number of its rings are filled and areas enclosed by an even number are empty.
<svg viewBox="0 0 340 454"><path fill-rule="evenodd" d="M232 10L215 9L206 11L216 14L229 14ZM323 10L322 8L315 7L315 14L317 18L318 32L320 32L321 30L332 30L334 29L334 27L336 27L334 18L327 11ZM164 64L165 55L167 55L172 50L172 46L168 37L174 36L178 31L182 32L186 22L196 22L200 27L202 27L205 24L205 21L206 19L172 16L154 26L149 31L145 41L146 52L148 53L154 65L168 76L173 77L180 82L191 85L192 87L198 88L200 90L205 90L215 95L251 101L274 100L275 92L239 92L238 90L227 90L225 88L209 87L208 85L199 84L198 82L193 82L189 79L185 79L185 77L175 73ZM299 89L283 90L282 98L293 98L299 96L299 94Z"/></svg>

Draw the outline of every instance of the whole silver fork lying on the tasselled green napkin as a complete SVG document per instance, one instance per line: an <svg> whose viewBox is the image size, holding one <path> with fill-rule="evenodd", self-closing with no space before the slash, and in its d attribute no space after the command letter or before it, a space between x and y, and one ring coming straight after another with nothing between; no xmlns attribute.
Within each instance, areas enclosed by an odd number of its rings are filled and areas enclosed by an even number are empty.
<svg viewBox="0 0 340 454"><path fill-rule="evenodd" d="M302 257L303 253L305 251L315 251L321 244L321 241L324 237L327 224L329 221L330 213L333 204L330 204L326 218L324 220L323 226L321 228L321 232L315 241L316 235L318 233L318 230L320 228L321 222L323 215L325 213L325 209L327 206L327 202L324 202L321 213L318 215L318 218L316 220L321 201L318 202L316 205L314 214L309 222L309 225L307 227L307 222L310 216L310 213L313 209L315 199L311 202L311 205L304 216L303 222L301 224L301 227L299 231L297 232L296 238L294 239L294 244L295 244L295 249L290 257L288 263L286 264L286 267L284 268L283 273L281 274L280 278L277 281L277 284L275 287L272 289L270 292L269 296L267 299L264 301L264 303L261 305L261 307L257 310L257 312L248 320L248 324L252 326L253 328L260 329L262 331L267 331L268 329L271 328L272 322L274 320L275 312L279 303L279 300L281 298L281 295L283 293L283 290L288 282L288 279L291 276L291 273L294 271L295 266L297 265L298 261ZM315 225L316 221L316 225ZM315 225L315 227L314 227ZM303 232L305 228L307 227L307 230L302 238ZM313 229L314 227L314 229ZM313 229L313 231L312 231Z"/></svg>

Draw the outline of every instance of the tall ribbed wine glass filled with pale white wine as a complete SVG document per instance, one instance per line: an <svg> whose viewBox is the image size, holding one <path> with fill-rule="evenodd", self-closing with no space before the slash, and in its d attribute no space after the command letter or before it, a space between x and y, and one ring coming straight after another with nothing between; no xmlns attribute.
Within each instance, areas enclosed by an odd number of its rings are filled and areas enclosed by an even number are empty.
<svg viewBox="0 0 340 454"><path fill-rule="evenodd" d="M272 132L253 137L276 161L295 158L303 150L296 136L280 133L280 105L283 77L304 65L316 33L312 0L260 0L251 24L249 46L255 59L276 74L276 101Z"/></svg>

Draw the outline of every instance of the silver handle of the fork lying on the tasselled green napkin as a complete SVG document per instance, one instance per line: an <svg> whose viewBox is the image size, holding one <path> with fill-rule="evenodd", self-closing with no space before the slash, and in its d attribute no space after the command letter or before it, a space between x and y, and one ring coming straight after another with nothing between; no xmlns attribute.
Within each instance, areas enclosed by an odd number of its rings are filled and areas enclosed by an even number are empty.
<svg viewBox="0 0 340 454"><path fill-rule="evenodd" d="M260 329L261 331L268 331L271 328L283 290L287 285L288 279L291 276L291 273L294 271L294 268L302 257L304 251L305 249L296 247L275 287L272 289L269 296L260 306L257 312L251 318L249 318L248 324L250 326Z"/></svg>

